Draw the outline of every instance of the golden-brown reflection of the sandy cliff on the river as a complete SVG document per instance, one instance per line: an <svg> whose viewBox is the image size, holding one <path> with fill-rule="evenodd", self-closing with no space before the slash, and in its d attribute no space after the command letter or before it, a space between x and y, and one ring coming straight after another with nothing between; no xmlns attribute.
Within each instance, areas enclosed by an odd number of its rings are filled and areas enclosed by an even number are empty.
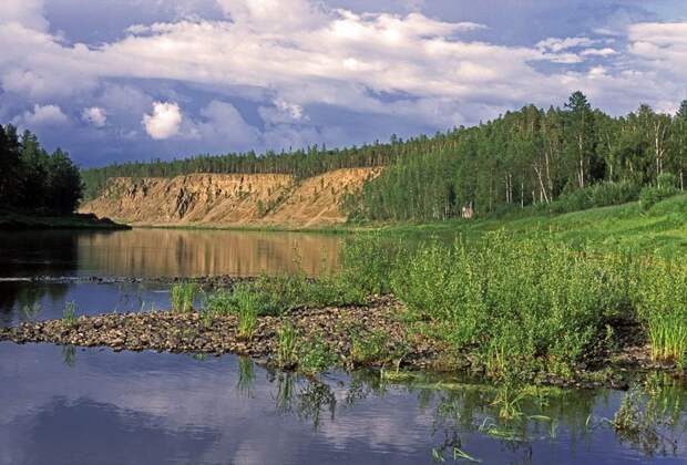
<svg viewBox="0 0 687 465"><path fill-rule="evenodd" d="M117 276L257 276L297 261L317 275L338 265L340 246L337 236L301 232L134 229L80 237L79 255L85 269Z"/></svg>

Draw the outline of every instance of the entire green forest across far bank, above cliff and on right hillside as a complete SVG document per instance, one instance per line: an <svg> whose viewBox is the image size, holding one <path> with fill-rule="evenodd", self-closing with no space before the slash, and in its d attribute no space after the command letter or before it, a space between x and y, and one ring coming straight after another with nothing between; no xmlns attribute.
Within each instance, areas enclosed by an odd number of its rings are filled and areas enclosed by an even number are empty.
<svg viewBox="0 0 687 465"><path fill-rule="evenodd" d="M280 173L305 178L336 168L386 166L381 176L346 199L352 219L441 220L460 217L468 206L476 215L490 215L530 206L556 211L636 200L646 186L683 189L686 164L687 101L675 115L640 105L614 117L574 92L563 106L527 105L431 137L156 159L82 175L91 198L116 176Z"/></svg>

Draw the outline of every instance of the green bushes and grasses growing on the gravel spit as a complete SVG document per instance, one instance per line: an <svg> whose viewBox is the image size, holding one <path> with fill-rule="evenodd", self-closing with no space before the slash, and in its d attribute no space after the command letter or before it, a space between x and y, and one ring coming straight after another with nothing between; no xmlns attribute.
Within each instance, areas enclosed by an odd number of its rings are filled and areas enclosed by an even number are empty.
<svg viewBox="0 0 687 465"><path fill-rule="evenodd" d="M396 345L413 353L417 341L431 341L441 352L434 359L447 369L469 366L493 379L574 380L613 364L614 356L619 362L629 348L645 350L645 364L678 371L687 365L687 268L678 258L633 248L604 254L553 234L521 238L501 230L413 249L380 235L362 236L349 240L342 261L339 272L318 281L303 273L265 276L212 293L201 318L209 327L215 318L233 316L239 335L249 340L265 316L361 306L370 296L390 293L401 302L396 318L408 330ZM182 292L189 291L174 290ZM283 331L280 341L297 338ZM383 349L389 339L383 331L348 337L357 341L351 360L399 360ZM286 364L307 358L298 353Z"/></svg>

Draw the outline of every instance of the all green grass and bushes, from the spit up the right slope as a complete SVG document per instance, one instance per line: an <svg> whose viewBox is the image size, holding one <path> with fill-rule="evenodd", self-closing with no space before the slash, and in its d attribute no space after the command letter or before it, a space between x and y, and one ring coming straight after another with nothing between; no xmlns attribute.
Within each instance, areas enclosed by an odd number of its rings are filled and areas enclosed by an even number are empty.
<svg viewBox="0 0 687 465"><path fill-rule="evenodd" d="M390 292L404 303L399 317L411 335L439 341L492 378L574 378L595 354L617 347L618 321L639 323L656 361L685 368L685 219L687 196L678 195L648 211L632 203L414 228L434 240L386 234L402 227L357 235L347 240L335 275L317 281L303 270L262 276L212 293L204 321L235 314L239 333L250 338L260 316L362 304ZM358 329L350 338L352 364L384 365L403 356L387 349L388 334ZM328 348L301 341L288 323L278 345L281 366L315 372L335 363Z"/></svg>

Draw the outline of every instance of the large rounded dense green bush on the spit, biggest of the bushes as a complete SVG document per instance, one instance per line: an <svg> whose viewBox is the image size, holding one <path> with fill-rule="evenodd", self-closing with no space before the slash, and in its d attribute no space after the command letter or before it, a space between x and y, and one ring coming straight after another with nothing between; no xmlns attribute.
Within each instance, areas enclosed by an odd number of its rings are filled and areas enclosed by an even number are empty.
<svg viewBox="0 0 687 465"><path fill-rule="evenodd" d="M514 368L568 371L627 304L621 260L585 258L548 237L503 232L471 247L429 245L398 266L393 293L492 374Z"/></svg>

